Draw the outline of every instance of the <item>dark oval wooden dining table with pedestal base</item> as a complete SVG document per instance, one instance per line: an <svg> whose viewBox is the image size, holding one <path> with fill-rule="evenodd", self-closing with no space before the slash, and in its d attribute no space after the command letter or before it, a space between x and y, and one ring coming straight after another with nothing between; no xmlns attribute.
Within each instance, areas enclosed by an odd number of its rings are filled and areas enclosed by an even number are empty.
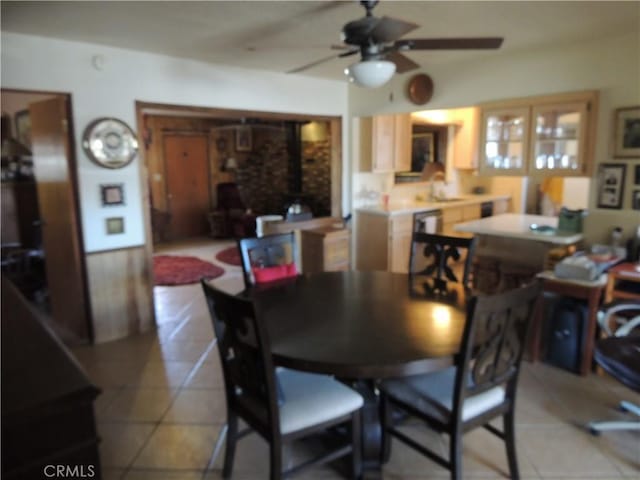
<svg viewBox="0 0 640 480"><path fill-rule="evenodd" d="M468 293L459 284L433 292L425 277L344 271L301 275L244 295L261 305L276 365L334 375L363 395L364 478L381 478L375 381L452 365Z"/></svg>

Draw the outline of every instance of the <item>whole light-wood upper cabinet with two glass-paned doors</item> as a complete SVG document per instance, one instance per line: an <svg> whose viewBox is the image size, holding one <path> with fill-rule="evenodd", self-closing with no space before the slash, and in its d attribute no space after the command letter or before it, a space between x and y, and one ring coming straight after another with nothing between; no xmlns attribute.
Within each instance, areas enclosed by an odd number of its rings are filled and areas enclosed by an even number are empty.
<svg viewBox="0 0 640 480"><path fill-rule="evenodd" d="M593 164L597 92L482 106L482 174L588 175Z"/></svg>

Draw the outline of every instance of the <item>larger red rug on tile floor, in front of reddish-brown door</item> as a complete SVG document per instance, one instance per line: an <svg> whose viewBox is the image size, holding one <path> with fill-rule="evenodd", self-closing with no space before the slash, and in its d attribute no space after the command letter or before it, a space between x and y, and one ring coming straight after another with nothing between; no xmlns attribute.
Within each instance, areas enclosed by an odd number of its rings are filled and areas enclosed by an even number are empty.
<svg viewBox="0 0 640 480"><path fill-rule="evenodd" d="M219 277L224 269L196 257L156 255L153 257L153 274L156 285L187 285L201 278Z"/></svg>

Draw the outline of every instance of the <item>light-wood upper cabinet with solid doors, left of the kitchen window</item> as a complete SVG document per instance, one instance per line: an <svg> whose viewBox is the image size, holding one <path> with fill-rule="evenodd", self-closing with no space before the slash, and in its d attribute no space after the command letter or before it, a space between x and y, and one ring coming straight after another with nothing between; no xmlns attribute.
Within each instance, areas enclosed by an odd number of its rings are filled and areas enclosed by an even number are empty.
<svg viewBox="0 0 640 480"><path fill-rule="evenodd" d="M359 130L359 152L354 152L355 158L360 159L359 171L411 170L411 116L408 113L361 117L354 126Z"/></svg>

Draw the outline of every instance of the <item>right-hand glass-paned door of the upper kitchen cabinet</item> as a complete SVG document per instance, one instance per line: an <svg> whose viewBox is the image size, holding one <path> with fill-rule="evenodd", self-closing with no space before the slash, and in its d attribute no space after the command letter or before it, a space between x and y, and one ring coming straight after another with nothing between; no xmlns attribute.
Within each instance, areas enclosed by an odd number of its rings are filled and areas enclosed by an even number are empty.
<svg viewBox="0 0 640 480"><path fill-rule="evenodd" d="M534 107L530 171L582 172L586 104Z"/></svg>

